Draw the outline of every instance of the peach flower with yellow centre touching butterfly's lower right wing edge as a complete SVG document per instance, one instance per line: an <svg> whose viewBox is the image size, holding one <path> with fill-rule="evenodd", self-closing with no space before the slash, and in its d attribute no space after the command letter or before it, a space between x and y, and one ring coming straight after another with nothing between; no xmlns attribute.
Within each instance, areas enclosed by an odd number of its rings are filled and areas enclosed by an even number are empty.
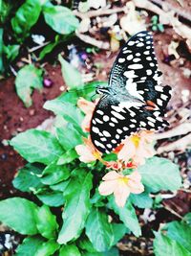
<svg viewBox="0 0 191 256"><path fill-rule="evenodd" d="M117 153L117 158L125 163L133 159L137 165L145 163L145 158L152 157L156 151L152 145L153 132L141 130L123 141L123 147Z"/></svg>

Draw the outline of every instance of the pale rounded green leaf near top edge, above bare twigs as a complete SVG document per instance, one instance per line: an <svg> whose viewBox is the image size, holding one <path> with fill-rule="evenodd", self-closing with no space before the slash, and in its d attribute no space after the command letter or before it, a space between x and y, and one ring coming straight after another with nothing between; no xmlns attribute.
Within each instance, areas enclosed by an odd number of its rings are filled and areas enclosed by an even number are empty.
<svg viewBox="0 0 191 256"><path fill-rule="evenodd" d="M48 4L43 6L43 14L46 23L59 34L68 35L78 28L78 19L66 7Z"/></svg>

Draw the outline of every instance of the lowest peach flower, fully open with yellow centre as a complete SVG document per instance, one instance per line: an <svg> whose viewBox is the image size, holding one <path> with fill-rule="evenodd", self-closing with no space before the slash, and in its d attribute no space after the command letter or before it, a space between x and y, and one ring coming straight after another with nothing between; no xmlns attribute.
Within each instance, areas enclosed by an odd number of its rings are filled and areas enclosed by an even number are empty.
<svg viewBox="0 0 191 256"><path fill-rule="evenodd" d="M133 172L131 175L122 175L112 171L104 175L102 179L104 181L98 187L100 195L109 196L114 193L118 207L125 205L130 193L140 194L144 191L138 171Z"/></svg>

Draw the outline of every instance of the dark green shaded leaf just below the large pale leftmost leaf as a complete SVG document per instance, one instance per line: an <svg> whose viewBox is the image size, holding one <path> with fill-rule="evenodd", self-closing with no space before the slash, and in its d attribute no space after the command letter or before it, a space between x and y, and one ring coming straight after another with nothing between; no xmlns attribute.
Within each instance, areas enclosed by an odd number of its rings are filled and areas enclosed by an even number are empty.
<svg viewBox="0 0 191 256"><path fill-rule="evenodd" d="M22 192L33 192L40 189L43 184L40 177L43 167L37 164L27 164L25 167L19 169L14 177L12 184L14 188Z"/></svg>

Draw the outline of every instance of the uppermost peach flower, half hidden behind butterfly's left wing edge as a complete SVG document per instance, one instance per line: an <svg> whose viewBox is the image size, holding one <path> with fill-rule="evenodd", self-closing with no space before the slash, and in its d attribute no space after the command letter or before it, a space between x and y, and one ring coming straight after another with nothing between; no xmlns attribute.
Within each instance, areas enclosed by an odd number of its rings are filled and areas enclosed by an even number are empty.
<svg viewBox="0 0 191 256"><path fill-rule="evenodd" d="M77 102L77 106L86 114L84 120L82 121L81 127L83 131L89 132L90 123L91 123L93 112L96 107L96 103L92 103L92 102L86 101L83 98L80 98Z"/></svg>

